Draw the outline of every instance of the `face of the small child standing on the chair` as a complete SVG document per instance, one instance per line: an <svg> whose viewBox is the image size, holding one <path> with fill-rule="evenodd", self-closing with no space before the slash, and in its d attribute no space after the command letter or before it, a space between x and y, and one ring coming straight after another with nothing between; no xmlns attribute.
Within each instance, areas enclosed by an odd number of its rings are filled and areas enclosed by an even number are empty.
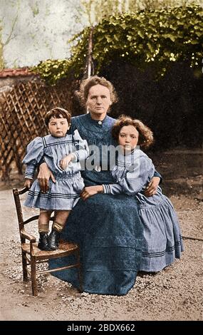
<svg viewBox="0 0 203 335"><path fill-rule="evenodd" d="M70 125L68 125L66 118L53 118L52 116L48 123L48 130L55 138L63 138L63 136L66 136L69 128Z"/></svg>

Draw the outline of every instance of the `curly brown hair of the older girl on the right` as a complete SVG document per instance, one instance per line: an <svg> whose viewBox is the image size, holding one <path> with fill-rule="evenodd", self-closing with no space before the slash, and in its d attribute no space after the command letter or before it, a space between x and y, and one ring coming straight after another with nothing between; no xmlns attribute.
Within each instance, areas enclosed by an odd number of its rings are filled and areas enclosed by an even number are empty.
<svg viewBox="0 0 203 335"><path fill-rule="evenodd" d="M127 115L120 115L118 120L115 121L112 129L113 138L118 142L119 133L121 128L125 127L125 125L133 125L135 129L137 129L139 133L138 143L142 148L148 148L153 142L153 133L147 125L144 125L140 120L132 119L130 116Z"/></svg>

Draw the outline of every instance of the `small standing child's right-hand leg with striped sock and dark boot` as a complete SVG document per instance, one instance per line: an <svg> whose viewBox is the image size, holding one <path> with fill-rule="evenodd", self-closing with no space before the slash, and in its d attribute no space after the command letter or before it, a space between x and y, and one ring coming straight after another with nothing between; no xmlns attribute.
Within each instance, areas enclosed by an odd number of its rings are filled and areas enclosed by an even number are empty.
<svg viewBox="0 0 203 335"><path fill-rule="evenodd" d="M66 220L71 210L56 210L51 233L48 237L48 246L52 250L58 249L58 239L61 230L66 225Z"/></svg>

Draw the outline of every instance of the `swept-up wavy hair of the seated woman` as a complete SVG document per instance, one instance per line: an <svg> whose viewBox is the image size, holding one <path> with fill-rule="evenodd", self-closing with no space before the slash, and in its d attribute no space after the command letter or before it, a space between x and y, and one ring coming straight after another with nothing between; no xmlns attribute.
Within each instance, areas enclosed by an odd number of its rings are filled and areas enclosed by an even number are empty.
<svg viewBox="0 0 203 335"><path fill-rule="evenodd" d="M112 103L116 103L118 101L117 93L115 92L115 88L110 81L107 81L103 77L92 76L88 79L85 79L80 83L80 90L76 92L78 98L80 99L80 103L85 106L86 101L88 100L88 93L90 88L95 85L102 85L109 89L110 91L110 100Z"/></svg>

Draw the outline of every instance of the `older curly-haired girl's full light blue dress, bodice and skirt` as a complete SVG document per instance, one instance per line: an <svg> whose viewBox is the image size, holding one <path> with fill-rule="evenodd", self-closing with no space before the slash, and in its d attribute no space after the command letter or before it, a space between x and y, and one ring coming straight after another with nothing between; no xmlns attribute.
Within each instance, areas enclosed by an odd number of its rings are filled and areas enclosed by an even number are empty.
<svg viewBox="0 0 203 335"><path fill-rule="evenodd" d="M182 234L177 215L170 200L158 187L157 194L145 197L145 187L152 179L155 167L152 160L135 149L129 155L118 152L112 175L121 190L135 197L144 227L144 241L140 270L157 272L180 258L183 251ZM115 185L104 185L105 193L117 194Z"/></svg>

